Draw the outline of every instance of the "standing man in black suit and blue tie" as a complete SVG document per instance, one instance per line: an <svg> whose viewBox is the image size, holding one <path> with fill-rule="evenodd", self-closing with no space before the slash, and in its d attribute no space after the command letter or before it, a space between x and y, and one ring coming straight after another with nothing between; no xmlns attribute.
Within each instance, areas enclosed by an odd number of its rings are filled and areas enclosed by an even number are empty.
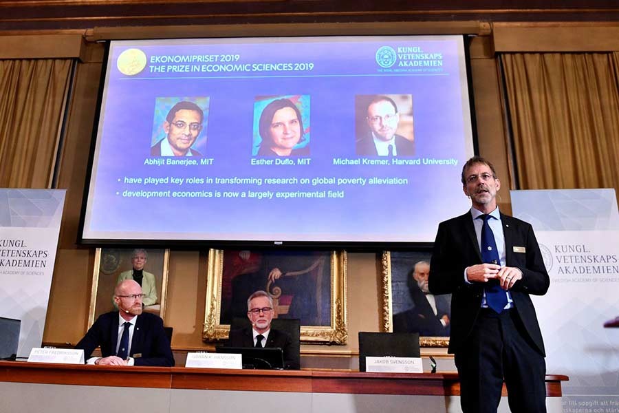
<svg viewBox="0 0 619 413"><path fill-rule="evenodd" d="M439 224L428 282L452 294L462 410L497 412L504 380L512 412L545 412L545 350L529 296L550 286L539 245L530 224L499 213L488 160L470 158L461 181L473 207Z"/></svg>

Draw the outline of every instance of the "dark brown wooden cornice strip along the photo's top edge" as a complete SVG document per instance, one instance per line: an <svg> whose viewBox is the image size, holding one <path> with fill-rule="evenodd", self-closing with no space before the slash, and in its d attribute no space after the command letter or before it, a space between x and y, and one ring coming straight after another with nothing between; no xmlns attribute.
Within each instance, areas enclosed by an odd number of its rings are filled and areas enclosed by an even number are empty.
<svg viewBox="0 0 619 413"><path fill-rule="evenodd" d="M0 30L376 21L617 21L608 0L0 0Z"/></svg>

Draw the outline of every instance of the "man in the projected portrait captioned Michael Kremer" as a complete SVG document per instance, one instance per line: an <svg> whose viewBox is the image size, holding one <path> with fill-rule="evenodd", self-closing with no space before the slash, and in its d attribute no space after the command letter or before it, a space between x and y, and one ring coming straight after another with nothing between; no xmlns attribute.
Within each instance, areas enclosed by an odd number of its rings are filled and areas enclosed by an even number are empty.
<svg viewBox="0 0 619 413"><path fill-rule="evenodd" d="M369 133L358 136L357 155L414 156L415 144L395 134L400 123L398 106L389 96L376 96L367 106Z"/></svg>

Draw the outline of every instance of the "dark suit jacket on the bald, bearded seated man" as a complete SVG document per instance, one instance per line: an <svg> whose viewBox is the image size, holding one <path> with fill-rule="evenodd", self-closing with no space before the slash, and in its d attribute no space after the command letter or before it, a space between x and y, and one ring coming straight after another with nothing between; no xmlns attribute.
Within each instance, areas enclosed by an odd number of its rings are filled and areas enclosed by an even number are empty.
<svg viewBox="0 0 619 413"><path fill-rule="evenodd" d="M101 347L101 356L116 354L118 342L118 311L100 315L83 339L75 348L84 350L88 359L95 348ZM142 354L135 357L133 354ZM166 337L163 321L160 317L149 313L138 315L131 340L129 357L133 357L135 366L174 366L174 357L170 341Z"/></svg>

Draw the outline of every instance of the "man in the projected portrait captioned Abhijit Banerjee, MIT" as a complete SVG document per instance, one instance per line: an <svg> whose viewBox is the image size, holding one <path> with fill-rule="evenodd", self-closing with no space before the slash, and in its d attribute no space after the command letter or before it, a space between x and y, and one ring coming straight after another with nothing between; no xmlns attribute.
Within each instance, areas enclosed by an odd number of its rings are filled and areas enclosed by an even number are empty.
<svg viewBox="0 0 619 413"><path fill-rule="evenodd" d="M200 131L204 112L193 102L182 101L170 109L164 122L166 138L151 147L151 156L202 156L191 149Z"/></svg>

